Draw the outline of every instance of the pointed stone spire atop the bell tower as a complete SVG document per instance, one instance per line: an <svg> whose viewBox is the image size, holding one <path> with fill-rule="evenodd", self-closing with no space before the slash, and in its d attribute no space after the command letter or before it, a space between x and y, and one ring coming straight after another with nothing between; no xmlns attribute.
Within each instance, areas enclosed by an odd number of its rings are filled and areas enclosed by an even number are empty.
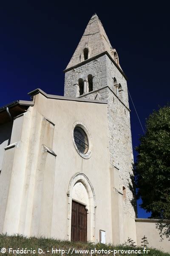
<svg viewBox="0 0 170 256"><path fill-rule="evenodd" d="M115 49L112 48L105 29L95 13L91 17L67 68L73 67L87 58L92 58L105 51L114 59Z"/></svg>

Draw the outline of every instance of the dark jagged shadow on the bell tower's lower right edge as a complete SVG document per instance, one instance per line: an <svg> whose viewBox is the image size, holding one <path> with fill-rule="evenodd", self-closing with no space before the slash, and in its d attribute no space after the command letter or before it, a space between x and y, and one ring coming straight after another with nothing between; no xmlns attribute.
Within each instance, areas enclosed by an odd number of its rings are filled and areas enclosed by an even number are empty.
<svg viewBox="0 0 170 256"><path fill-rule="evenodd" d="M132 192L133 198L130 200L130 203L133 206L133 209L135 211L135 215L137 217L137 203L136 203L136 185L135 185L135 176L134 176L134 164L132 163L132 170L133 174L129 172L130 180L128 179L128 187L130 191Z"/></svg>

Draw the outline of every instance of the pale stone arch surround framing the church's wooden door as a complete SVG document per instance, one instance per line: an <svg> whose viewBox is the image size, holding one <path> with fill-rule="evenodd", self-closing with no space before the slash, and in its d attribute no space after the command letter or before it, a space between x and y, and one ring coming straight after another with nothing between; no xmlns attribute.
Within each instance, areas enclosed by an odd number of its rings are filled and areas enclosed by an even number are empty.
<svg viewBox="0 0 170 256"><path fill-rule="evenodd" d="M68 226L67 226L67 237L68 240L71 240L71 208L72 208L72 195L73 187L76 183L81 182L87 191L88 194L88 207L87 207L87 240L95 242L95 208L96 208L96 199L94 188L84 173L78 172L77 174L71 177L71 180L68 185Z"/></svg>

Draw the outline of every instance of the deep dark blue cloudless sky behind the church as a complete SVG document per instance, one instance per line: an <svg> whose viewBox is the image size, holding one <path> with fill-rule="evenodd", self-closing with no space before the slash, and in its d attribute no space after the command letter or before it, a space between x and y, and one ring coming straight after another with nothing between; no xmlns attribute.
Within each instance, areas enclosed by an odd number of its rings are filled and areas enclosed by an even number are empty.
<svg viewBox="0 0 170 256"><path fill-rule="evenodd" d="M151 1L152 2L152 1ZM170 99L169 7L149 1L1 1L0 106L39 87L63 95L64 73L96 12L116 48L142 125ZM130 102L133 148L142 134ZM136 156L136 152L134 151ZM139 209L139 217L147 217Z"/></svg>

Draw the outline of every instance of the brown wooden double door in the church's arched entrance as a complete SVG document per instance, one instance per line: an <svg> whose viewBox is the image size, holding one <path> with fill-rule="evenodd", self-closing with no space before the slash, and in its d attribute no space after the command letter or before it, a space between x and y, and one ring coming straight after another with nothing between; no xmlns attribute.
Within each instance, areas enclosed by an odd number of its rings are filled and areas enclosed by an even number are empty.
<svg viewBox="0 0 170 256"><path fill-rule="evenodd" d="M87 212L85 206L72 201L71 241L87 241Z"/></svg>

